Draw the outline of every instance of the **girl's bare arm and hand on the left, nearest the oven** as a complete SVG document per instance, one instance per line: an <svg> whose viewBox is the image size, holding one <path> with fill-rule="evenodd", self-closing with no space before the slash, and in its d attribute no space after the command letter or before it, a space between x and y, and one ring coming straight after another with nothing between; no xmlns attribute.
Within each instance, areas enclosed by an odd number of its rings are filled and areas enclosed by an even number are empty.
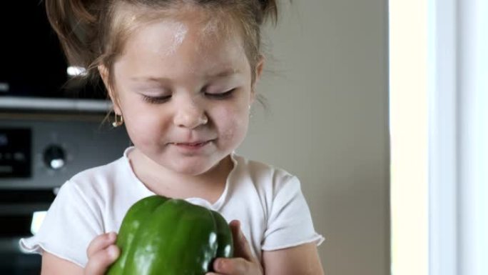
<svg viewBox="0 0 488 275"><path fill-rule="evenodd" d="M115 241L115 233L101 234L93 239L88 246L88 263L85 269L44 251L41 275L103 275L120 253L117 246L113 245Z"/></svg>

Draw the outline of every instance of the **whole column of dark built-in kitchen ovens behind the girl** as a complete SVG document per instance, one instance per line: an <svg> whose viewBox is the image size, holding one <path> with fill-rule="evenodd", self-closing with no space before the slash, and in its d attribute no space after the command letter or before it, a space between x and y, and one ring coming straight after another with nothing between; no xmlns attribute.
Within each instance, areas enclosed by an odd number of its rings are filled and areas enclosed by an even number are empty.
<svg viewBox="0 0 488 275"><path fill-rule="evenodd" d="M19 239L64 181L117 159L129 139L102 126L111 104L100 83L64 86L83 68L66 63L44 1L0 1L0 34L0 274L39 274L41 257L22 254Z"/></svg>

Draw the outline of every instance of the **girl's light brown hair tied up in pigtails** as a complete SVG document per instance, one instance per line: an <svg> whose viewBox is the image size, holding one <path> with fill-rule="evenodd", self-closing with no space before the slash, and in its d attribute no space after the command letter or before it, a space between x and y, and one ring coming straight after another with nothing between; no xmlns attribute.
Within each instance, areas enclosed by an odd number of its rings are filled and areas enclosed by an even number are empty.
<svg viewBox="0 0 488 275"><path fill-rule="evenodd" d="M185 6L202 8L214 17L237 23L254 81L261 55L261 26L267 19L274 23L278 20L275 0L46 0L49 22L68 63L86 69L79 78L98 80L98 66L103 65L110 85L113 63L131 31L146 21L178 14Z"/></svg>

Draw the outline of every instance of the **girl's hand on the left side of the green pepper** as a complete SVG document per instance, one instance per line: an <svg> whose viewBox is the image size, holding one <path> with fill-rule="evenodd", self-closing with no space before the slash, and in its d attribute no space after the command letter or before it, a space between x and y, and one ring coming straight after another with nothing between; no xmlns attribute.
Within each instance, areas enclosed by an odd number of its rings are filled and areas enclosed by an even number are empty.
<svg viewBox="0 0 488 275"><path fill-rule="evenodd" d="M103 275L120 254L115 245L117 234L114 232L101 234L91 241L86 254L88 263L85 266L84 275Z"/></svg>

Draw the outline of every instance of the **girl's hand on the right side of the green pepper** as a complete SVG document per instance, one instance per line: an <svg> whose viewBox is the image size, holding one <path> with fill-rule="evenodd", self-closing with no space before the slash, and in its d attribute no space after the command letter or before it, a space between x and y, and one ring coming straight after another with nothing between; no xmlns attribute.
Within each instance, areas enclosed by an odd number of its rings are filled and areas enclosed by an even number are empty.
<svg viewBox="0 0 488 275"><path fill-rule="evenodd" d="M253 256L248 241L242 231L240 222L230 221L234 241L234 256L232 259L218 258L213 262L214 272L206 275L263 275L263 266Z"/></svg>

